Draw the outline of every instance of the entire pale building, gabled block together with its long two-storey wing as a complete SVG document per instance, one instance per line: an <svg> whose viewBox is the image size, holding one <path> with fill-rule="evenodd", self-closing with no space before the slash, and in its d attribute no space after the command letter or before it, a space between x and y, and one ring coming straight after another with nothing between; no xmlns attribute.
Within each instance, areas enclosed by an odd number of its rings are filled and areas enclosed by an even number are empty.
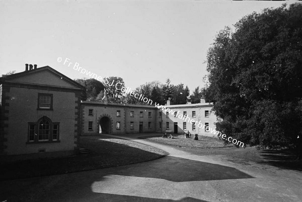
<svg viewBox="0 0 302 202"><path fill-rule="evenodd" d="M81 101L84 86L49 66L0 77L0 159L69 155L80 135L174 133L214 136L212 105L156 106ZM185 118L185 119L184 119ZM193 121L192 121L193 120Z"/></svg>

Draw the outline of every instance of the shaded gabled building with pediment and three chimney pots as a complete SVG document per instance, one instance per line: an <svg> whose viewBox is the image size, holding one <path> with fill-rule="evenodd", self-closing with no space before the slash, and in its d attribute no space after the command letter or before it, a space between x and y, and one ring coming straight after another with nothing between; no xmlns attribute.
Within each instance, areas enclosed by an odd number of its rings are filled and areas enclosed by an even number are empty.
<svg viewBox="0 0 302 202"><path fill-rule="evenodd" d="M0 77L0 156L73 154L84 86L49 66Z"/></svg>

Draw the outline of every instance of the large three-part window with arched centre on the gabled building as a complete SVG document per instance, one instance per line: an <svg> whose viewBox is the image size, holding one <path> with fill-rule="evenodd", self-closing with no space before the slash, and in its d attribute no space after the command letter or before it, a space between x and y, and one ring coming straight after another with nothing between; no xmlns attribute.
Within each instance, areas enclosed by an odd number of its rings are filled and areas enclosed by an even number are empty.
<svg viewBox="0 0 302 202"><path fill-rule="evenodd" d="M44 116L36 123L28 123L28 142L59 142L59 123Z"/></svg>

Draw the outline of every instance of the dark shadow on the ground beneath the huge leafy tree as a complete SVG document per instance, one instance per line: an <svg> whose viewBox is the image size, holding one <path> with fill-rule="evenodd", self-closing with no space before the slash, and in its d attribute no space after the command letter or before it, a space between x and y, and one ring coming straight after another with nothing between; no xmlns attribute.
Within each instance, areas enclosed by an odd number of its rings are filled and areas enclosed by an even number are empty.
<svg viewBox="0 0 302 202"><path fill-rule="evenodd" d="M296 156L289 150L261 150L260 163L272 165L281 169L302 171L302 160L296 160Z"/></svg>

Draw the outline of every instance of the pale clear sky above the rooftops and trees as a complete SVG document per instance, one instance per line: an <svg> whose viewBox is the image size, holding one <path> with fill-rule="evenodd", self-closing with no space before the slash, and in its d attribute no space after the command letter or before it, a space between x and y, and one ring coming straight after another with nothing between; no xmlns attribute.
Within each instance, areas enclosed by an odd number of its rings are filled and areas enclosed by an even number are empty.
<svg viewBox="0 0 302 202"><path fill-rule="evenodd" d="M0 75L28 63L71 79L119 76L131 89L170 78L192 92L219 30L284 3L297 1L0 0Z"/></svg>

